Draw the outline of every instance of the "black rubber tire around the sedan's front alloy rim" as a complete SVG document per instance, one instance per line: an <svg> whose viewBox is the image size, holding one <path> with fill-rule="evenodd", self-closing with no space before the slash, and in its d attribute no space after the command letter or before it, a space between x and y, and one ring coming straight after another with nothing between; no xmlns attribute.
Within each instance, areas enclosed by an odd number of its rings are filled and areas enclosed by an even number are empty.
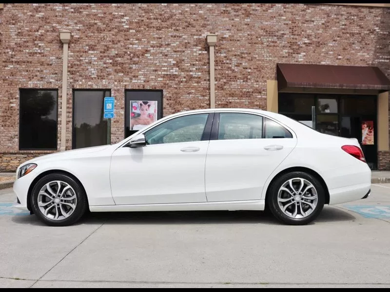
<svg viewBox="0 0 390 292"><path fill-rule="evenodd" d="M56 219L56 220L51 219L51 218L46 217L42 213L42 211L39 209L39 205L38 205L39 191L41 190L41 188L44 185L46 185L46 183L50 183L50 182L54 182L54 181L60 181L63 183L67 183L69 186L71 186L73 188L73 191L76 195L76 200L77 200L76 207L73 209L73 211L70 213L70 215L67 218ZM52 190L56 190L56 188L55 188L56 184L53 184L53 185L54 185L54 189L52 188ZM60 187L62 187L61 190L63 190L64 186L65 186L65 184L60 186ZM72 191L72 194L73 194L73 191ZM47 193L49 193L49 192L47 191ZM41 197L41 198L43 198L43 197ZM43 200L50 201L51 199L43 199ZM74 203L75 201L72 200L72 201L66 201L66 202ZM49 206L51 206L51 205L54 205L54 207L57 208L57 206L55 206L56 203L50 203ZM71 224L77 222L84 215L84 213L87 209L87 205L88 205L87 196L86 196L83 188L72 177L69 177L65 174L52 173L52 174L48 174L48 175L44 176L43 178L41 178L38 181L38 183L36 183L36 185L34 186L33 191L32 191L31 207L34 211L34 214L39 218L39 220L41 220L42 222L44 222L45 224L50 225L50 226L68 226L68 225L71 225ZM66 205L62 205L62 206L64 206L63 207L64 209L67 208L68 210L71 210L71 208L67 207ZM50 210L50 212L54 212L54 210L55 209L52 209L52 210ZM60 210L60 208L58 208L58 210ZM58 210L57 210L57 212L58 212ZM65 212L66 212L66 210L65 210ZM59 212L59 214L62 214L62 211Z"/></svg>

